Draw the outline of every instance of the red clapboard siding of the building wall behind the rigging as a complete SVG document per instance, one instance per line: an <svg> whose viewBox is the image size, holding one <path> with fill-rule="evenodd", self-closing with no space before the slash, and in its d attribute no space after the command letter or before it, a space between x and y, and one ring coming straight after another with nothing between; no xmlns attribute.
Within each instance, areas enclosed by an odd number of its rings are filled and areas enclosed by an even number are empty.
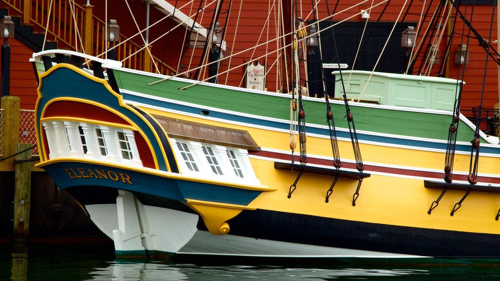
<svg viewBox="0 0 500 281"><path fill-rule="evenodd" d="M136 32L135 23L132 19L132 16L129 14L126 5L123 4L122 0L108 0L108 18L115 18L118 20L118 25L120 25L120 31L128 36L131 36ZM143 1L128 1L131 9L134 13L137 24L140 28L145 26L145 3ZM187 0L177 0L170 1L172 4L175 4L180 7L187 3ZM354 2L354 1L352 1ZM86 0L79 0L80 4L85 4ZM203 3L205 3L203 1ZM272 3L272 1L271 1ZM368 3L368 2L366 2ZM392 0L390 6L384 11L381 20L384 21L394 21L397 19L400 9L403 6L403 0ZM419 2L420 4L422 2ZM104 7L103 2L101 1L91 1L91 4L94 6L94 14L99 16L102 20L104 20ZM194 10L197 9L199 1L193 2L193 4L186 5L182 11L185 14L193 14ZM229 1L224 1L222 5L222 9L227 9ZM330 13L334 9L335 3L330 3ZM428 4L428 3L427 3ZM227 23L227 30L225 34L224 40L227 42L227 51L226 54L229 55L231 53L238 53L243 50L246 50L252 46L263 43L270 38L273 38L276 32L276 12L274 12L274 8L270 7L270 4L267 0L252 0L252 1L243 1L241 5L241 9L239 11L240 2L235 1L232 3L231 12L229 13L229 21ZM302 19L310 19L312 16L308 14L308 10L310 10L310 3L305 3L302 6L302 12L299 10L299 14ZM336 7L336 11L341 11L348 8L347 4L339 4ZM358 12L360 9L366 9L367 5L354 5L352 9L349 10L349 13L344 13L342 16L335 16L333 20L341 20L349 15L352 15ZM212 9L214 8L214 4L205 7L204 13L201 12L198 14L197 21L201 23L202 26L208 27L210 25ZM382 12L383 5L374 7L370 11L370 20L376 20L380 13ZM482 34L485 38L488 36L490 18L491 18L491 5L476 5L474 7L474 16L472 17L473 26L477 29L477 31ZM271 12L268 13L268 11ZM403 9L404 13L405 8ZM432 10L432 8L430 9ZM461 8L462 12L465 11L465 7ZM405 21L413 21L417 22L419 20L419 13L421 11L421 6L414 6L411 8L409 14ZM467 11L470 11L470 7L467 8ZM238 17L239 13L239 17ZM327 14L326 6L324 2L320 2L317 8L317 17L322 18ZM218 18L221 26L225 25L225 18L228 14L222 13ZM269 15L268 27L264 23L266 22L266 18ZM151 8L151 18L150 23L154 23L156 20L162 18L164 15ZM430 15L429 15L430 16ZM466 18L469 18L469 14L465 13ZM359 15L354 16L350 20L361 20ZM457 30L461 29L461 21L458 22ZM236 29L236 23L238 27ZM496 14L493 20L493 35L492 40L496 39ZM174 26L170 19L165 19L161 23L152 27L149 33L149 41L155 40L158 36L161 36L169 30L172 26ZM265 25L265 27L262 27ZM426 27L426 26L424 26ZM398 31L400 32L400 31ZM261 34L262 33L262 34ZM445 34L447 36L448 34ZM164 58L164 61L173 68L179 67L179 64L183 64L184 70L189 68L194 68L199 63L199 58L201 55L201 48L183 48L185 36L184 28L177 28L170 35L165 35L161 39L154 42L152 45L152 52L156 57ZM260 37L259 37L260 36ZM236 41L234 38L236 37ZM143 44L140 40L140 37L135 37L134 40L139 45ZM444 50L446 42L446 37L443 37L440 42L441 51ZM455 37L452 42L451 52L456 49L456 46L461 42L461 38L459 34L455 34ZM31 56L32 50L22 45L19 41L15 39L11 39L9 41L11 45L12 52L12 72L11 72L11 94L17 95L21 98L21 107L22 108L33 108L34 102L36 99L36 82L34 78L34 74L32 72L31 64L28 62L29 57ZM262 46L256 48L255 50L244 51L240 54L235 55L232 58L227 58L220 63L219 73L225 71L228 68L233 68L230 74L223 74L219 77L219 83L225 83L227 80L227 84L230 85L240 85L243 79L243 71L244 67L239 66L244 63L244 61L248 61L251 58L255 58L263 55L269 51L276 50L276 42L272 41L268 44L263 44ZM183 50L183 51L181 51ZM477 106L479 104L479 97L481 95L482 89L482 80L484 73L484 59L486 58L484 50L477 45L477 40L471 38L469 42L469 50L470 50L470 63L467 65L465 70L465 82L466 85L463 88L462 94L462 108L470 108L472 106ZM182 53L182 59L179 63L179 54ZM461 77L461 71L457 68L457 66L452 62L453 53L451 53L448 64L448 70L445 71L448 77L451 78L459 78ZM276 70L276 57L277 52L272 52L269 55L260 58L260 62L266 62L268 72L266 79L266 86L269 90L275 91L277 87L276 78L277 78L277 70ZM274 64L272 68L270 66ZM436 71L433 69L432 71ZM302 71L303 72L303 71ZM458 75L458 76L457 76ZM207 77L206 73L201 72L200 77ZM483 106L485 107L493 107L494 103L498 102L498 86L497 86L497 66L493 61L489 61L487 67L487 76L486 76L486 84L484 87L484 101Z"/></svg>

